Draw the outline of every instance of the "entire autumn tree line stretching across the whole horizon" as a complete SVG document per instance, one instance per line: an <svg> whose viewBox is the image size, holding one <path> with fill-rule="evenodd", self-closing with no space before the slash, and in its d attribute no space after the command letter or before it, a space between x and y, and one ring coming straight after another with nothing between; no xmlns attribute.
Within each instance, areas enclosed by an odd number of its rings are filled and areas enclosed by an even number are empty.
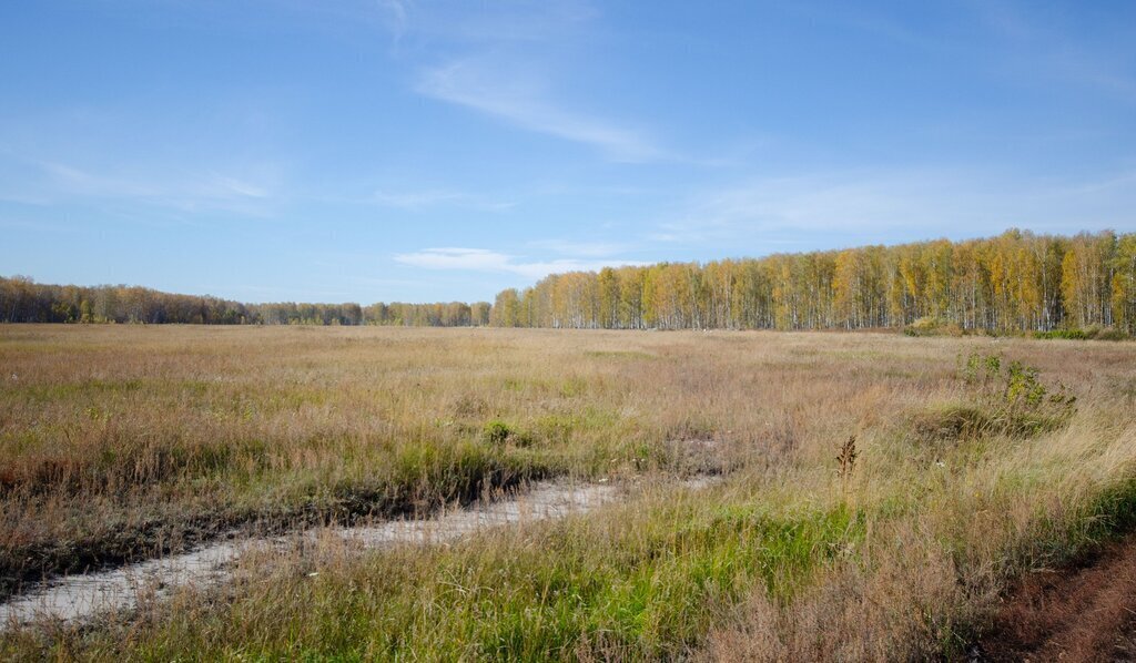
<svg viewBox="0 0 1136 663"><path fill-rule="evenodd" d="M244 304L126 286L0 278L0 321L575 329L964 330L1136 334L1136 233L1009 230L985 240L663 262L549 276L495 303Z"/></svg>

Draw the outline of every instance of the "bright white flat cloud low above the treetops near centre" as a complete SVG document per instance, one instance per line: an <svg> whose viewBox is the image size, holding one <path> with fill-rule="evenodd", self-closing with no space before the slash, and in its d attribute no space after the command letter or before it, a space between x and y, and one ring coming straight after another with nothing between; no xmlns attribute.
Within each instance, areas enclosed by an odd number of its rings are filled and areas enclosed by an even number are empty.
<svg viewBox="0 0 1136 663"><path fill-rule="evenodd" d="M402 265L424 269L512 274L534 280L550 274L595 271L604 267L644 265L640 261L618 259L578 260L567 258L548 261L525 261L518 259L516 255L488 249L460 247L424 249L414 253L399 253L394 257L394 260Z"/></svg>

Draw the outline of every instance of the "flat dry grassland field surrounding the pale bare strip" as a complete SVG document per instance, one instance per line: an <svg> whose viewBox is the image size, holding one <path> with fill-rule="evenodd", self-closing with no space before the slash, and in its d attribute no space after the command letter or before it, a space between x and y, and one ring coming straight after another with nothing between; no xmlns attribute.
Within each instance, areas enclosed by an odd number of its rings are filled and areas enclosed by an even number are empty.
<svg viewBox="0 0 1136 663"><path fill-rule="evenodd" d="M220 590L10 629L0 657L963 656L1016 578L1136 526L1136 345L0 326L0 597L553 476L626 500L265 553Z"/></svg>

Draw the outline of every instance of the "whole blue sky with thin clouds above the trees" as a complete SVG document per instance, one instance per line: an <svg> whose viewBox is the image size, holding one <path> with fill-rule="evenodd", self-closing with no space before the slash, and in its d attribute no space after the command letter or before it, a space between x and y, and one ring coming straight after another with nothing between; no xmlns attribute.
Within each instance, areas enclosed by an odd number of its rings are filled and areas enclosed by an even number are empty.
<svg viewBox="0 0 1136 663"><path fill-rule="evenodd" d="M0 275L491 300L1136 229L1136 3L12 0Z"/></svg>

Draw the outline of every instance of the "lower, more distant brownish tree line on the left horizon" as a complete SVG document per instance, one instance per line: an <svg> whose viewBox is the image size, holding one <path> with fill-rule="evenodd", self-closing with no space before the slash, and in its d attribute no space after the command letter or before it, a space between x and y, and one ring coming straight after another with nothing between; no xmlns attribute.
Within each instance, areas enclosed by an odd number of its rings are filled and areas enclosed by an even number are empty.
<svg viewBox="0 0 1136 663"><path fill-rule="evenodd" d="M0 321L467 327L488 325L490 304L245 304L136 286L44 285L17 276L0 277Z"/></svg>

